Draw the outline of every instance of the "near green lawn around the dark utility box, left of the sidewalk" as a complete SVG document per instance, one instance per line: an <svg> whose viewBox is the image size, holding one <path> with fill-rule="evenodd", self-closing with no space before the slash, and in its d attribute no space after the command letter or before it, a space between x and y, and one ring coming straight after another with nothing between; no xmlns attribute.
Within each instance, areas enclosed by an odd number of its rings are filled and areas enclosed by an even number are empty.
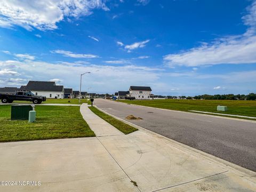
<svg viewBox="0 0 256 192"><path fill-rule="evenodd" d="M95 137L78 106L36 106L36 122L11 121L11 106L0 106L0 142Z"/></svg>

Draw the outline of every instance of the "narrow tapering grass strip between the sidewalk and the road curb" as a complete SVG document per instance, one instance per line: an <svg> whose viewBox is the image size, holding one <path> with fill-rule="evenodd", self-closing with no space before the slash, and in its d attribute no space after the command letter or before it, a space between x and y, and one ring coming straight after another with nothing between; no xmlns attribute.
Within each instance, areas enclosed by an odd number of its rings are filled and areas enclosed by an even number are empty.
<svg viewBox="0 0 256 192"><path fill-rule="evenodd" d="M134 131L137 131L138 129L136 129L135 127L128 125L122 121L117 120L114 117L111 117L103 112L101 112L100 110L98 110L95 107L89 107L91 109L91 111L98 115L100 118L104 119L106 122L108 122L109 124L113 125L114 127L116 127L116 129L118 129L119 131L123 132L124 134L129 134L132 133Z"/></svg>

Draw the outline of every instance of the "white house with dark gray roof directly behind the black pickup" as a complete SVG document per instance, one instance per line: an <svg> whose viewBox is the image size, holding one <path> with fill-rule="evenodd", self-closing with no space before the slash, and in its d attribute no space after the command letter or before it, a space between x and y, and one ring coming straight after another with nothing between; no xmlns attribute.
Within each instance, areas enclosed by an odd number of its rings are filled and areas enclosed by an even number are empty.
<svg viewBox="0 0 256 192"><path fill-rule="evenodd" d="M21 86L20 90L29 90L48 99L64 98L64 86L56 85L55 82L29 81L26 86Z"/></svg>

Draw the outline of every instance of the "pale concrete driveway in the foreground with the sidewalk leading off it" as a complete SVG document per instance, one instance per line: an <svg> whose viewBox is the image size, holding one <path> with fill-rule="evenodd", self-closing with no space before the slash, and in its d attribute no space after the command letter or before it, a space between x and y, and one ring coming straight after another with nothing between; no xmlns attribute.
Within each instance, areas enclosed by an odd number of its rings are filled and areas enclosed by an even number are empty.
<svg viewBox="0 0 256 192"><path fill-rule="evenodd" d="M96 135L111 131L86 107ZM104 136L0 143L0 181L42 182L0 191L256 191L255 172L150 131Z"/></svg>

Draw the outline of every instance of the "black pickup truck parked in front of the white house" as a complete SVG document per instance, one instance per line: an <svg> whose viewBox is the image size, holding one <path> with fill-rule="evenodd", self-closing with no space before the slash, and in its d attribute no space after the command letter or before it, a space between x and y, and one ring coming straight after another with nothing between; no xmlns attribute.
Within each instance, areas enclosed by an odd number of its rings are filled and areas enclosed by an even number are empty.
<svg viewBox="0 0 256 192"><path fill-rule="evenodd" d="M40 104L46 101L46 97L34 95L31 91L16 91L15 94L1 94L0 99L2 103L12 103L14 100L18 101L33 101L35 104Z"/></svg>

